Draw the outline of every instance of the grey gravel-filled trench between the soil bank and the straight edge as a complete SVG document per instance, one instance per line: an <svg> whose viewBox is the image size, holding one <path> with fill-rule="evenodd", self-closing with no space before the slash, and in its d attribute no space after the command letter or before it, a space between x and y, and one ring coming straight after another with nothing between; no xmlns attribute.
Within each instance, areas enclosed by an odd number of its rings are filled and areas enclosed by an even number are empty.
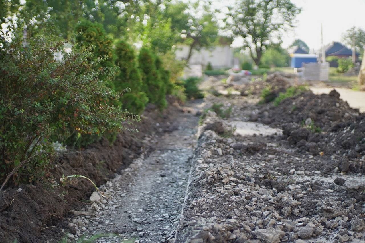
<svg viewBox="0 0 365 243"><path fill-rule="evenodd" d="M191 104L194 108L198 103ZM101 191L109 200L97 200L93 211L97 217L70 219L82 237L98 237L95 242L169 242L184 202L190 162L196 144L199 116L178 113L172 132L150 137L155 150L134 162L105 185ZM85 221L86 220L86 221ZM73 240L73 235L69 240ZM128 240L127 240L128 239ZM124 242L124 241L123 241Z"/></svg>

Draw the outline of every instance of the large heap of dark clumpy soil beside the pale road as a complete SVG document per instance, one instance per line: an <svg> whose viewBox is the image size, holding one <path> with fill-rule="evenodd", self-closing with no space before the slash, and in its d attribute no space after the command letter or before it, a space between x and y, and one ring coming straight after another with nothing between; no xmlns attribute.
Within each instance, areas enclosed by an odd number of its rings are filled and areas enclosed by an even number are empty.
<svg viewBox="0 0 365 243"><path fill-rule="evenodd" d="M365 173L357 160L365 155L365 114L351 108L335 90L328 95L309 91L285 99L277 107L262 106L252 119L281 127L282 139L295 146L297 152L327 156L330 167L326 164L324 172L339 166L344 172ZM339 161L343 156L350 160L346 166Z"/></svg>

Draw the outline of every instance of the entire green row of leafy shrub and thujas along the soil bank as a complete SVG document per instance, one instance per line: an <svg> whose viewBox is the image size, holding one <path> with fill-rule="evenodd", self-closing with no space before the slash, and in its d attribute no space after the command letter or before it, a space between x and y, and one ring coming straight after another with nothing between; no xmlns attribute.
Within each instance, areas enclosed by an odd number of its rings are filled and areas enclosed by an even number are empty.
<svg viewBox="0 0 365 243"><path fill-rule="evenodd" d="M12 41L0 38L1 183L41 178L61 144L112 139L127 129L125 121L139 120L147 103L164 109L172 92L156 53L142 47L137 56L101 24L78 24L70 52L51 28L42 28L29 26L26 37L19 29ZM61 61L54 59L56 51L62 51Z"/></svg>

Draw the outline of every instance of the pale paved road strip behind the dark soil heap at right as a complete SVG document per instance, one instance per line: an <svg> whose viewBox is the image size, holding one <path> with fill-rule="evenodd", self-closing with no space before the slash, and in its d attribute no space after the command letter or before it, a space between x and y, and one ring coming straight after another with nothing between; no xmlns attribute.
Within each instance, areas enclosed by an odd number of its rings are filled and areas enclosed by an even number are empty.
<svg viewBox="0 0 365 243"><path fill-rule="evenodd" d="M313 93L329 93L333 88L311 88ZM337 92L340 93L340 98L347 101L353 108L360 109L361 112L365 112L365 92L355 91L346 88L336 88Z"/></svg>

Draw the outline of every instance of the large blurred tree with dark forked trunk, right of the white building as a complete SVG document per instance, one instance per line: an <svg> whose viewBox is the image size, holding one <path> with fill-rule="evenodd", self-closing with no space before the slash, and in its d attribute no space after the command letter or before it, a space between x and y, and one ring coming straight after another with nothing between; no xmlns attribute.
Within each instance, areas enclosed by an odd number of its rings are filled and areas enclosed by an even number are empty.
<svg viewBox="0 0 365 243"><path fill-rule="evenodd" d="M260 64L265 45L280 30L293 27L300 8L290 0L237 0L226 18L226 31L243 37L244 46L256 65ZM228 27L228 28L227 28Z"/></svg>

